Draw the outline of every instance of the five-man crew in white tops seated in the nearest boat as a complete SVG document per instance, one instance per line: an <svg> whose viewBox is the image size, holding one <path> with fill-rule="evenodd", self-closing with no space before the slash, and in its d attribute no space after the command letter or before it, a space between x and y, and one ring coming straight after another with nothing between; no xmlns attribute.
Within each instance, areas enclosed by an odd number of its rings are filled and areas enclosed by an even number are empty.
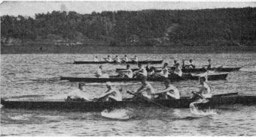
<svg viewBox="0 0 256 137"><path fill-rule="evenodd" d="M164 82L165 88L161 91L155 91L153 86L146 81L146 79L142 79L142 85L138 88L136 92L133 93L133 100L139 100L144 98L145 100L168 100L168 99L180 99L180 92L178 88L172 85L169 79L166 79ZM211 88L206 83L206 79L204 77L200 78L200 91L194 92L191 98L197 100L197 103L203 102L205 98L212 97ZM103 92L98 98L89 99L88 95L83 92L84 84L79 83L78 90L73 91L67 97L67 101L71 100L84 100L84 101L122 101L121 92L123 89L117 90L115 86L111 82L106 82L107 91ZM198 98L200 97L200 98ZM203 100L202 100L203 99Z"/></svg>

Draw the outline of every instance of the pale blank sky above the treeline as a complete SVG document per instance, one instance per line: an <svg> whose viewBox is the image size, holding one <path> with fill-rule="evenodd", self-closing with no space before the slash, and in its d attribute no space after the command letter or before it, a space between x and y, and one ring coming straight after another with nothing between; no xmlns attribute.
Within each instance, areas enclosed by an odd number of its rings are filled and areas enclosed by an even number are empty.
<svg viewBox="0 0 256 137"><path fill-rule="evenodd" d="M105 10L197 10L222 7L256 7L256 1L3 1L0 4L0 16L33 17L35 13L47 13L53 10L72 10L84 14Z"/></svg>

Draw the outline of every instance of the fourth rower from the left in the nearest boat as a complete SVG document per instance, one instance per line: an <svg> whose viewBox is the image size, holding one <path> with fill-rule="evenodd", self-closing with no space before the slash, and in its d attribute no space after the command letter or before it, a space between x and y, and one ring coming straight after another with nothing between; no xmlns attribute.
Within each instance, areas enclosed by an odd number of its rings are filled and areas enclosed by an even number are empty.
<svg viewBox="0 0 256 137"><path fill-rule="evenodd" d="M166 79L164 82L164 85L166 85L166 88L163 89L163 91L157 91L155 94L160 94L159 99L167 100L169 98L173 99L180 99L180 92L178 91L178 88L176 88L174 85L171 84L169 79Z"/></svg>

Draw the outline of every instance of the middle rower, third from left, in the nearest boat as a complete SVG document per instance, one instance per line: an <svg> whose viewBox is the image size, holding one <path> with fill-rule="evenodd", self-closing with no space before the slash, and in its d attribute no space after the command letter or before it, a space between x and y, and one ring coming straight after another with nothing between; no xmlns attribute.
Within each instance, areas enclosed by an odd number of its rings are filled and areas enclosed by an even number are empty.
<svg viewBox="0 0 256 137"><path fill-rule="evenodd" d="M141 94L149 100L154 100L154 93L152 85L146 79L142 79L142 86L136 91L136 94Z"/></svg>

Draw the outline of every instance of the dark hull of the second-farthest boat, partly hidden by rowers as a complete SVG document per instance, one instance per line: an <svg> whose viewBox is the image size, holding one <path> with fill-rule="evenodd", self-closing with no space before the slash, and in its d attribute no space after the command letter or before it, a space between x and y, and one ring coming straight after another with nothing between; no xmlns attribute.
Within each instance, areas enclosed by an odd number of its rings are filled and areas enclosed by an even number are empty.
<svg viewBox="0 0 256 137"><path fill-rule="evenodd" d="M157 67L158 68L158 67ZM159 67L160 68L160 67ZM241 67L217 67L217 68L211 68L208 70L215 70L218 72L232 72L232 71L238 71L240 70ZM120 71L120 70L126 70L126 69L121 69L121 68L117 68L116 71ZM139 70L139 69L132 69L133 71ZM172 70L174 70L174 67L172 67ZM206 68L194 68L194 69L181 69L183 73L202 73L202 72L206 72ZM157 71L157 73L159 73L160 71Z"/></svg>

